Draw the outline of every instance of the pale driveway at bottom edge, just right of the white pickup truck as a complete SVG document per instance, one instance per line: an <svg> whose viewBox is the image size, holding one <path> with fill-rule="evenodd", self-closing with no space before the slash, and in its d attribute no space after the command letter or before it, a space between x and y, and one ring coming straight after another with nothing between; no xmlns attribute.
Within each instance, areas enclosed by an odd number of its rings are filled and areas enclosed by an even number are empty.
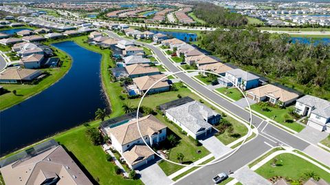
<svg viewBox="0 0 330 185"><path fill-rule="evenodd" d="M258 173L255 173L254 171L252 171L248 166L244 166L243 168L239 169L238 171L236 171L232 177L234 177L235 179L237 179L239 182L241 182L242 184L246 184L246 185L250 185L250 184L254 184L254 185L271 185L272 183L270 183L267 179L265 179L264 177L262 177L261 175L259 175Z"/></svg>

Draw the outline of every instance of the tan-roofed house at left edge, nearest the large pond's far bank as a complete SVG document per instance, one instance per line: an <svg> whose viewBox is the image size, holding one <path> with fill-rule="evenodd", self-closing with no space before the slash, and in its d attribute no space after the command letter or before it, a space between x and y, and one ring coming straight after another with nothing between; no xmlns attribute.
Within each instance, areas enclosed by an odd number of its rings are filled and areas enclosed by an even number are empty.
<svg viewBox="0 0 330 185"><path fill-rule="evenodd" d="M41 75L40 70L8 67L0 74L0 83L25 83Z"/></svg>

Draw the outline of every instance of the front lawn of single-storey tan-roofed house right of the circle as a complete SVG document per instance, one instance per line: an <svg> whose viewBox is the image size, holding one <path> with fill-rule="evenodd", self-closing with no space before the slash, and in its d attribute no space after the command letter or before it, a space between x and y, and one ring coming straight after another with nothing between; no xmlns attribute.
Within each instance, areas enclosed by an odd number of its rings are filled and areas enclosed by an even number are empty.
<svg viewBox="0 0 330 185"><path fill-rule="evenodd" d="M280 124L283 124L283 126L288 127L294 131L300 132L305 128L302 124L299 124L298 122L285 122L285 115L289 116L291 120L294 120L294 118L289 114L289 107L280 109L268 106L269 111L262 111L261 106L259 104L254 104L251 105L251 109L263 114L267 118L270 118Z"/></svg>

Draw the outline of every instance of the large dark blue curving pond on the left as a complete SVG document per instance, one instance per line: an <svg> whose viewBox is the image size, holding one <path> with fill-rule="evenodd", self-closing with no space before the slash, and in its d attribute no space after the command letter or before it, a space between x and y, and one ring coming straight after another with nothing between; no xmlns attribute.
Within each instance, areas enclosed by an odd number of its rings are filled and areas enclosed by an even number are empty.
<svg viewBox="0 0 330 185"><path fill-rule="evenodd" d="M1 112L0 155L93 120L96 109L107 107L100 80L101 55L72 41L53 46L72 56L72 67L40 94Z"/></svg>

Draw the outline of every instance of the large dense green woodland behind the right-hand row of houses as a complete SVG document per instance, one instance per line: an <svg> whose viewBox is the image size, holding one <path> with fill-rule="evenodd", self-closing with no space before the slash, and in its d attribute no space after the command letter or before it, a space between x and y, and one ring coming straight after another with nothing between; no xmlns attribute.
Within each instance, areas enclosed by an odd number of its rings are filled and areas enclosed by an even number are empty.
<svg viewBox="0 0 330 185"><path fill-rule="evenodd" d="M305 94L330 98L330 45L292 43L288 34L255 28L208 32L201 45L228 62L283 84L303 85Z"/></svg>

